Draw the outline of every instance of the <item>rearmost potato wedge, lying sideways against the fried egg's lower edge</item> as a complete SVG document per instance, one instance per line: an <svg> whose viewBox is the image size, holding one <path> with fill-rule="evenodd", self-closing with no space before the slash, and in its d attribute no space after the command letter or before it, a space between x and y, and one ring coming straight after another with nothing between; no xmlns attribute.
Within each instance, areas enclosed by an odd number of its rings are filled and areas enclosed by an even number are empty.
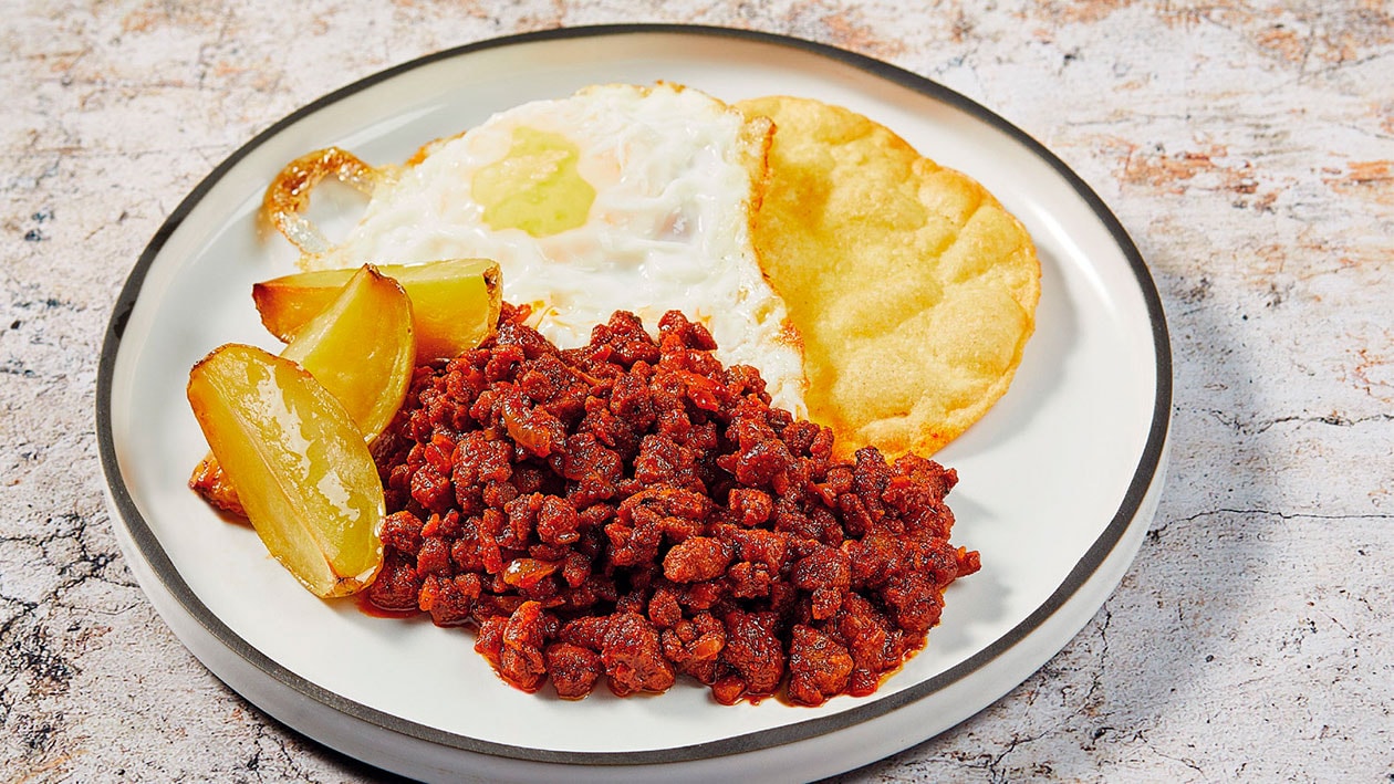
<svg viewBox="0 0 1394 784"><path fill-rule="evenodd" d="M400 283L411 298L417 356L422 361L453 359L478 347L499 322L499 265L492 260L449 259L378 269ZM333 301L351 274L347 269L321 270L258 283L252 299L262 324L290 341Z"/></svg>

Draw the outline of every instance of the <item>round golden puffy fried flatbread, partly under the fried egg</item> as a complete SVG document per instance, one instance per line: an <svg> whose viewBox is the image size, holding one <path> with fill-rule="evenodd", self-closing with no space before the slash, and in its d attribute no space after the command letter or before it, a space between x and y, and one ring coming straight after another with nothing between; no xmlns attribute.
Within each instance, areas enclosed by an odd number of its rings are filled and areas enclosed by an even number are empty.
<svg viewBox="0 0 1394 784"><path fill-rule="evenodd" d="M775 123L754 242L803 336L810 416L839 451L933 454L1022 361L1040 298L1030 237L860 114L783 96L737 109Z"/></svg>

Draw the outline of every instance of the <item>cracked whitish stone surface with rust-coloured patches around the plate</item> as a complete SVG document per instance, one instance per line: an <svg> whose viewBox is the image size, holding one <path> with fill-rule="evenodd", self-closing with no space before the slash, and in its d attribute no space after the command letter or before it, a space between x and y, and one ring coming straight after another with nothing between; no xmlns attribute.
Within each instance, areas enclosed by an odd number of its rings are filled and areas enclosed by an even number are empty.
<svg viewBox="0 0 1394 784"><path fill-rule="evenodd" d="M941 81L1039 138L1151 265L1172 462L1122 585L979 716L848 781L1394 780L1394 19L1369 1L7 3L0 780L367 781L243 702L102 500L110 304L180 198L348 81L502 33L757 28ZM933 155L933 150L926 150Z"/></svg>

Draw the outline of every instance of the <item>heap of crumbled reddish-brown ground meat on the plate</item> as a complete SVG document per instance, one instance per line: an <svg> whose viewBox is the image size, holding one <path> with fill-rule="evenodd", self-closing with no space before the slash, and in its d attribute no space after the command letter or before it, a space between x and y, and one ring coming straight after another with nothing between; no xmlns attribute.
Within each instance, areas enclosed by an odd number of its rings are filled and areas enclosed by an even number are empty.
<svg viewBox="0 0 1394 784"><path fill-rule="evenodd" d="M977 571L948 540L953 471L831 460L831 430L771 408L682 313L655 341L618 312L565 351L527 316L506 306L484 347L417 368L375 450L389 517L369 600L477 628L509 684L867 695Z"/></svg>

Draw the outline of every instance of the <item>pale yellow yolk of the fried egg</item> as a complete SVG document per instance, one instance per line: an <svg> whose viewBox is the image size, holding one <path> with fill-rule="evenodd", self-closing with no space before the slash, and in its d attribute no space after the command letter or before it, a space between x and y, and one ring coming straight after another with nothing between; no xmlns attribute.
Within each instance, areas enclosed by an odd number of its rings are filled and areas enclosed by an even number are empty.
<svg viewBox="0 0 1394 784"><path fill-rule="evenodd" d="M474 201L495 231L549 237L585 223L595 188L576 171L580 149L560 134L519 127L509 155L475 171Z"/></svg>

